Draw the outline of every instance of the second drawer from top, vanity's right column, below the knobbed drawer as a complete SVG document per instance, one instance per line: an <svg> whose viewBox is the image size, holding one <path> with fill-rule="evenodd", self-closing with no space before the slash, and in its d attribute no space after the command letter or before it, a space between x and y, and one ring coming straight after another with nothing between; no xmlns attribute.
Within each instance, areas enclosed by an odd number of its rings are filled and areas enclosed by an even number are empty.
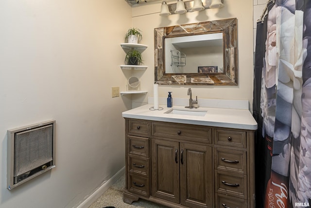
<svg viewBox="0 0 311 208"><path fill-rule="evenodd" d="M217 170L234 171L246 175L246 151L215 148L214 158Z"/></svg>

